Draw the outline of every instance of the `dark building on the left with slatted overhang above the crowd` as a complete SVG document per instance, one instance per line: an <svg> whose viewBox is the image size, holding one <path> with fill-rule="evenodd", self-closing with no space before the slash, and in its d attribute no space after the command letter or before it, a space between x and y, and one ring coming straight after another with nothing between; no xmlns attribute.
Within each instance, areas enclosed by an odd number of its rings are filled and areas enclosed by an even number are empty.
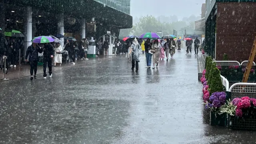
<svg viewBox="0 0 256 144"><path fill-rule="evenodd" d="M33 37L62 34L81 40L107 31L118 36L120 29L132 28L132 16L95 0L1 0L0 28L25 35L25 55Z"/></svg>

